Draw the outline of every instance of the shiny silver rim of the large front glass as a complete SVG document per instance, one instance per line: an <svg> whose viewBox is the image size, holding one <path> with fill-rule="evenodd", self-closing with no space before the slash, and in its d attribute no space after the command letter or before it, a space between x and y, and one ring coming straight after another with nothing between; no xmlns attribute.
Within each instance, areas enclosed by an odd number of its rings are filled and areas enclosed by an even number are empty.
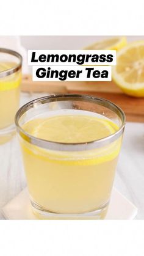
<svg viewBox="0 0 144 256"><path fill-rule="evenodd" d="M40 104L50 103L54 101L68 101L68 100L77 100L77 101L85 101L90 103L95 103L104 107L109 108L110 110L114 111L118 117L121 119L121 126L118 131L115 133L110 134L109 136L103 137L101 139L97 139L95 141L90 142L80 142L80 143L62 143L62 142L54 142L48 141L45 139L40 139L38 137L34 137L31 134L27 133L23 130L21 125L19 124L19 120L21 116L28 111L29 109L34 108ZM118 107L116 104L112 103L109 100L104 98L93 97L92 95L82 95L82 94L53 94L48 95L45 97L40 97L35 100L29 101L28 103L24 104L15 115L15 125L18 134L20 134L23 139L31 144L34 144L38 147L50 149L50 150L57 150L57 151L83 151L83 150L90 150L97 147L103 147L104 145L109 144L110 142L115 141L118 137L123 134L124 126L126 123L126 116L122 109Z"/></svg>

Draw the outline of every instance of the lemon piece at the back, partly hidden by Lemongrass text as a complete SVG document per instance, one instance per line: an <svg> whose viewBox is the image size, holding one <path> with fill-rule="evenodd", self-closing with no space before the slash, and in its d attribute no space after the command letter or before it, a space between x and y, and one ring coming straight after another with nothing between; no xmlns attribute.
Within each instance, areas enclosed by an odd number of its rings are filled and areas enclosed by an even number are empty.
<svg viewBox="0 0 144 256"><path fill-rule="evenodd" d="M113 37L107 40L98 41L85 49L115 49L119 50L126 45L126 37Z"/></svg>

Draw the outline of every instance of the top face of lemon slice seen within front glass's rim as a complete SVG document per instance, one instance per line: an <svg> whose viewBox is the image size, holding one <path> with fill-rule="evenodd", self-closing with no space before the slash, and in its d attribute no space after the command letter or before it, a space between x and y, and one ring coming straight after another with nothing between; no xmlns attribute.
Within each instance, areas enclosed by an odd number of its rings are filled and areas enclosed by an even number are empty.
<svg viewBox="0 0 144 256"><path fill-rule="evenodd" d="M115 132L112 122L84 115L61 115L35 119L24 130L32 136L61 143L84 143L107 137Z"/></svg>

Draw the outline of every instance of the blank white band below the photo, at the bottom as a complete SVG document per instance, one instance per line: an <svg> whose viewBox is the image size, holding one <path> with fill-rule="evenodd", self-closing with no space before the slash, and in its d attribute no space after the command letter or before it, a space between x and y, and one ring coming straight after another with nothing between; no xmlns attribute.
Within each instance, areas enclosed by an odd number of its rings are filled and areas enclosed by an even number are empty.
<svg viewBox="0 0 144 256"><path fill-rule="evenodd" d="M1 256L143 256L142 221L3 221Z"/></svg>

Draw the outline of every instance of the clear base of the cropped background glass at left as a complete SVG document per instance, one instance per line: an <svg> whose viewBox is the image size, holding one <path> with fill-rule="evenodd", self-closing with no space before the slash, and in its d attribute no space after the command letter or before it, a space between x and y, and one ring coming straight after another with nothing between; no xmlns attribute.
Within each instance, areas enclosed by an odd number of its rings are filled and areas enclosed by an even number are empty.
<svg viewBox="0 0 144 256"><path fill-rule="evenodd" d="M4 129L0 129L0 145L4 144L16 134L16 128L15 125L10 125L9 127L6 127Z"/></svg>

